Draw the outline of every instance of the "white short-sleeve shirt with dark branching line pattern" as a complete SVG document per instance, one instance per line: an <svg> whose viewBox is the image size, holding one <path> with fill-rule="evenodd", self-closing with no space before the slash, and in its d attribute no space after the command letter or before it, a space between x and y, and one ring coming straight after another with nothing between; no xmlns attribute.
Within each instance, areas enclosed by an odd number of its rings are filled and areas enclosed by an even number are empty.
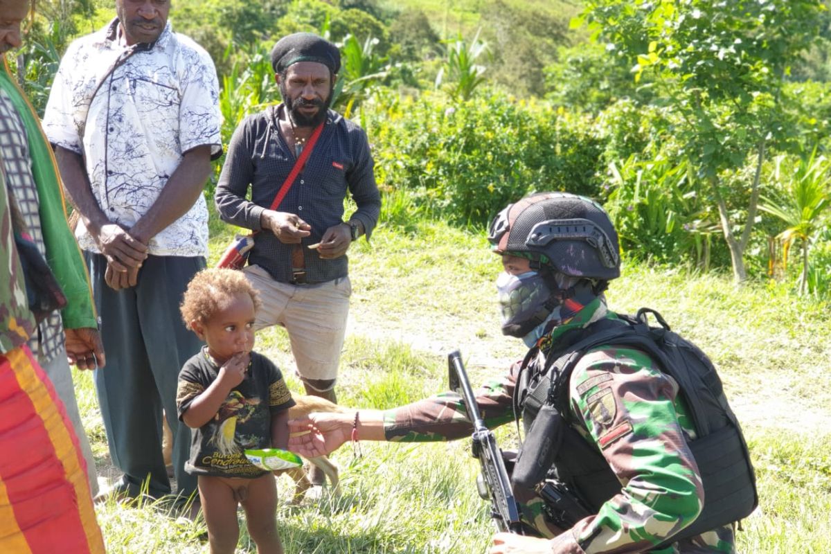
<svg viewBox="0 0 831 554"><path fill-rule="evenodd" d="M158 199L182 155L210 145L222 153L219 81L208 52L170 30L126 46L118 20L72 42L61 60L43 128L53 145L85 157L92 194L114 223L132 227ZM81 248L98 252L81 222ZM205 256L203 195L150 240L156 256Z"/></svg>

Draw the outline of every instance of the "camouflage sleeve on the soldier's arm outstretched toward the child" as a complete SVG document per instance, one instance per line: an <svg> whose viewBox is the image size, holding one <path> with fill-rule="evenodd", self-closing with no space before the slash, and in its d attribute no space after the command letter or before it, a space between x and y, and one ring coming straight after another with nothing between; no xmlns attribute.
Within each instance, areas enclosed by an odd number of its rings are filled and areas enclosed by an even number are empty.
<svg viewBox="0 0 831 554"><path fill-rule="evenodd" d="M512 399L519 362L508 375L490 380L476 391L476 404L484 423L491 429L514 419ZM386 440L430 442L470 437L473 425L460 395L442 393L384 412Z"/></svg>

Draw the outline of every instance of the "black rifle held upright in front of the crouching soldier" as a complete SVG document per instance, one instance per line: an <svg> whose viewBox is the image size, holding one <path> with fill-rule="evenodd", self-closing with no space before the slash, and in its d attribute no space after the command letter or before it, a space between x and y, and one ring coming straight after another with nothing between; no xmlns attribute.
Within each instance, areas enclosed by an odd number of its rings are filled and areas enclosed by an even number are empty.
<svg viewBox="0 0 831 554"><path fill-rule="evenodd" d="M476 485L479 496L490 500L491 517L496 522L500 532L524 534L519 522L519 508L511 490L508 471L502 458L502 450L496 444L494 434L484 426L484 420L479 414L476 397L470 387L465 365L462 363L459 351L452 351L447 356L447 365L450 374L450 389L459 393L465 400L465 410L473 423L473 445L471 454L479 459L482 474ZM484 483L483 483L484 481ZM483 485L484 484L484 490Z"/></svg>

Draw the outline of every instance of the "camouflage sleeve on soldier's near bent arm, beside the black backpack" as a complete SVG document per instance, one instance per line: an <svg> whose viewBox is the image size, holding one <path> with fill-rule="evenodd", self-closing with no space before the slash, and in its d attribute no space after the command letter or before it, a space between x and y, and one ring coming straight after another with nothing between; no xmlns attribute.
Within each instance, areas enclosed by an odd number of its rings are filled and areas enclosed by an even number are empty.
<svg viewBox="0 0 831 554"><path fill-rule="evenodd" d="M552 552L645 552L695 521L701 477L686 445L674 380L631 349L583 356L569 384L578 430L597 445L622 491L552 541ZM678 409L681 408L681 414Z"/></svg>

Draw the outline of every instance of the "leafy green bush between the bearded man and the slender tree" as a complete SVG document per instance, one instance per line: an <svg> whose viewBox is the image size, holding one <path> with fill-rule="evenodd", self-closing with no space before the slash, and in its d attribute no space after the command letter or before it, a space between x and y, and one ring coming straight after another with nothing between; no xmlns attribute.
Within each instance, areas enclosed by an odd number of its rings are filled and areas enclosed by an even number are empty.
<svg viewBox="0 0 831 554"><path fill-rule="evenodd" d="M465 102L389 95L367 106L382 187L411 191L422 209L471 225L533 191L597 196L602 144L590 123L496 93Z"/></svg>

